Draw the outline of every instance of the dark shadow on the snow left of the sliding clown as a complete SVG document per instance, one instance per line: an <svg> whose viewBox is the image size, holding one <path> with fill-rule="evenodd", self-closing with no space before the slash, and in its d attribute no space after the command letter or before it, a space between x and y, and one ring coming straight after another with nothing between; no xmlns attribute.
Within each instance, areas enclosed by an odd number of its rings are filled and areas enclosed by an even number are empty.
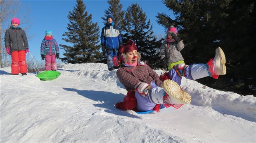
<svg viewBox="0 0 256 143"><path fill-rule="evenodd" d="M126 111L121 111L120 109L117 109L115 107L115 104L117 102L123 101L123 97L125 96L123 94L120 94L120 93L116 94L116 93L106 92L106 91L77 90L74 88L63 88L63 89L67 91L77 92L79 95L82 95L83 97L101 102L100 104L93 104L93 105L100 108L107 108L107 110L105 110L105 112L107 113L128 116L132 118L140 118L137 115L127 113Z"/></svg>

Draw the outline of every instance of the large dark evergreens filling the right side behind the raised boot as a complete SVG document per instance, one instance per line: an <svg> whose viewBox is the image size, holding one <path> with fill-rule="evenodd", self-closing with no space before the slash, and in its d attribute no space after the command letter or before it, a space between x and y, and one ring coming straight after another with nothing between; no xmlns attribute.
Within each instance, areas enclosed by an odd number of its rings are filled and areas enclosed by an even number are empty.
<svg viewBox="0 0 256 143"><path fill-rule="evenodd" d="M204 78L205 83L225 85L227 80L243 79L248 89L248 78L256 80L252 61L255 60L255 8L253 0L163 0L173 11L175 19L161 13L157 23L168 27L175 25L184 39L183 57L186 64L207 62L214 57L215 48L221 47L226 55L227 75L213 80ZM254 14L253 14L254 12ZM253 48L254 47L254 48ZM251 52L249 52L251 51ZM252 60L254 59L254 60ZM254 71L254 72L251 72ZM217 87L216 86L216 87ZM226 88L222 86L223 89ZM230 87L229 87L230 88ZM239 89L241 90L241 88Z"/></svg>

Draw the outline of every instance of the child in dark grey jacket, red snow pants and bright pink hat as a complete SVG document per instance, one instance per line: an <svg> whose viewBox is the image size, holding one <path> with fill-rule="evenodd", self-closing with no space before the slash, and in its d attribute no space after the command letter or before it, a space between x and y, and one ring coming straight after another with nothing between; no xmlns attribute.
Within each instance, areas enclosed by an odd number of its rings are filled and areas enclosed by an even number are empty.
<svg viewBox="0 0 256 143"><path fill-rule="evenodd" d="M28 40L26 33L19 27L19 19L12 18L11 27L5 32L5 48L12 56L12 75L27 75L26 53L28 53Z"/></svg>

